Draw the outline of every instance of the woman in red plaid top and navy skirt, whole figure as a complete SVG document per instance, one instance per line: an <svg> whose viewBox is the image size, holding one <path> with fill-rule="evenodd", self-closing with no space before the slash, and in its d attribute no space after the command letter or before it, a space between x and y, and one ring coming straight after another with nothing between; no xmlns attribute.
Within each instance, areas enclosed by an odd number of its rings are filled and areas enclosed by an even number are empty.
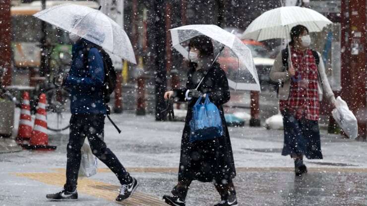
<svg viewBox="0 0 367 206"><path fill-rule="evenodd" d="M296 175L302 175L307 172L304 155L308 159L322 159L318 118L323 93L332 105L335 97L321 55L309 49L308 29L302 25L293 27L291 38L291 55L286 48L277 56L270 78L280 83L279 108L284 125L282 155L291 155Z"/></svg>

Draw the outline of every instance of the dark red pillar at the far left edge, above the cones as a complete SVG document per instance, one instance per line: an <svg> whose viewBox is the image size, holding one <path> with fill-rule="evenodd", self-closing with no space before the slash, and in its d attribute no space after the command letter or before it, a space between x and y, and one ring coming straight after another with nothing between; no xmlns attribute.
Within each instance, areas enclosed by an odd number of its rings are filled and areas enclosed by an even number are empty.
<svg viewBox="0 0 367 206"><path fill-rule="evenodd" d="M11 84L11 16L10 0L0 1L0 69L4 69L1 86Z"/></svg>

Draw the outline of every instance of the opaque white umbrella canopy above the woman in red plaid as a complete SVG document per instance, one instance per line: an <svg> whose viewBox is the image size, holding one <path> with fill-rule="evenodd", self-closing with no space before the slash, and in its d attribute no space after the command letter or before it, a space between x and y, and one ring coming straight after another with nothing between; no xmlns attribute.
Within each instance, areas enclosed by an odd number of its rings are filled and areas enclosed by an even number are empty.
<svg viewBox="0 0 367 206"><path fill-rule="evenodd" d="M266 11L253 20L242 38L256 41L289 39L291 28L296 25L306 26L309 32L320 32L331 23L328 18L315 10L299 6L284 6Z"/></svg>

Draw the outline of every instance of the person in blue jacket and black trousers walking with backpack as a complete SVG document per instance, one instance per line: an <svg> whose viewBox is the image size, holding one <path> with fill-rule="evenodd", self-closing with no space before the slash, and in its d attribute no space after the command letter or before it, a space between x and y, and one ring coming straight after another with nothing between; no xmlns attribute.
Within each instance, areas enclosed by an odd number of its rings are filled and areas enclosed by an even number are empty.
<svg viewBox="0 0 367 206"><path fill-rule="evenodd" d="M72 114L67 144L66 184L61 192L47 195L46 198L53 201L77 200L80 149L87 138L93 154L116 174L122 184L116 199L120 202L132 195L138 183L103 141L104 121L107 114L107 105L103 98L105 77L103 57L96 45L72 33L69 36L74 44L71 68L63 83L63 86L71 91Z"/></svg>

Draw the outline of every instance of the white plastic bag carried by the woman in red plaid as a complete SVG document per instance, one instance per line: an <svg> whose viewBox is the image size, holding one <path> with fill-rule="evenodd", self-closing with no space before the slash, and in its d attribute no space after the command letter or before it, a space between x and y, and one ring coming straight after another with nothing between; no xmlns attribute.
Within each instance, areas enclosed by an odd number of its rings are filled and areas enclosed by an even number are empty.
<svg viewBox="0 0 367 206"><path fill-rule="evenodd" d="M331 112L339 127L350 138L358 136L357 118L348 108L348 104L341 97L336 98L335 108Z"/></svg>

